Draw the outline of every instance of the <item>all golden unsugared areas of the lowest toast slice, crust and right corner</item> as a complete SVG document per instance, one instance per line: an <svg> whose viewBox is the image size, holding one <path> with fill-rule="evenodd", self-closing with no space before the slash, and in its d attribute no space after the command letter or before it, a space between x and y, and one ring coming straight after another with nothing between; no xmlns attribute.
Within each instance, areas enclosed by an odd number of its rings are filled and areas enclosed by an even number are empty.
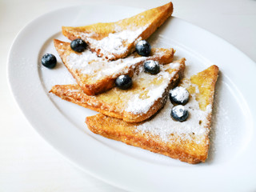
<svg viewBox="0 0 256 192"><path fill-rule="evenodd" d="M201 86L199 88L200 94L197 96L199 103L205 103L202 100L204 98L210 105L213 105L214 86L217 78L217 66L210 66L207 70L191 77L191 82ZM202 83L204 86L202 86ZM169 142L163 142L158 136L152 136L136 129L136 126L142 125L144 122L129 123L117 118L107 117L104 114L97 114L86 118L88 128L95 134L101 134L106 138L112 138L131 146L138 146L142 149L164 154L170 158L177 158L182 162L189 163L206 161L210 144L208 137L210 122L211 113L207 117L206 134L191 134L190 137L192 139L184 139L180 135L171 134Z"/></svg>

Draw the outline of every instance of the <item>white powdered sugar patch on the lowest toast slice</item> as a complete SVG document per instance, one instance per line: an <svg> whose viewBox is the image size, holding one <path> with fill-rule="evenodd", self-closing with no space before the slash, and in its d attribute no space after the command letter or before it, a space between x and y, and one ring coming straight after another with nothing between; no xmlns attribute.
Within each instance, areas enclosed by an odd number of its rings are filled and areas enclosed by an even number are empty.
<svg viewBox="0 0 256 192"><path fill-rule="evenodd" d="M137 126L137 131L142 134L158 136L163 142L170 142L171 134L178 134L182 139L191 139L191 135L207 134L207 116L212 111L212 106L208 105L206 110L200 110L194 94L186 104L189 111L189 118L185 122L176 122L170 117L170 110L174 105L168 99L166 106L149 122Z"/></svg>

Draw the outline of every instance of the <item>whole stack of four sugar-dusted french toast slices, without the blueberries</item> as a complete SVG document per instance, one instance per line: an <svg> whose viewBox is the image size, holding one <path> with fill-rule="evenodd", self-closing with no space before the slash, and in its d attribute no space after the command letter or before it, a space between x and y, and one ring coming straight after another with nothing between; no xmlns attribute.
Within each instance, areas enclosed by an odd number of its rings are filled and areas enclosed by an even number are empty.
<svg viewBox="0 0 256 192"><path fill-rule="evenodd" d="M172 12L170 2L118 22L63 26L62 34L70 40L82 38L89 48L78 53L70 48L70 42L54 40L77 84L56 85L50 92L98 111L99 114L86 117L94 134L182 162L205 162L218 66L183 78L186 59L173 61L174 49L152 48L149 56L134 52L136 43L149 38ZM158 74L145 72L143 63L147 60L159 63ZM116 78L122 74L132 78L133 85L128 90L115 86ZM175 86L190 93L186 104L190 116L184 122L170 116L174 104L169 91Z"/></svg>

